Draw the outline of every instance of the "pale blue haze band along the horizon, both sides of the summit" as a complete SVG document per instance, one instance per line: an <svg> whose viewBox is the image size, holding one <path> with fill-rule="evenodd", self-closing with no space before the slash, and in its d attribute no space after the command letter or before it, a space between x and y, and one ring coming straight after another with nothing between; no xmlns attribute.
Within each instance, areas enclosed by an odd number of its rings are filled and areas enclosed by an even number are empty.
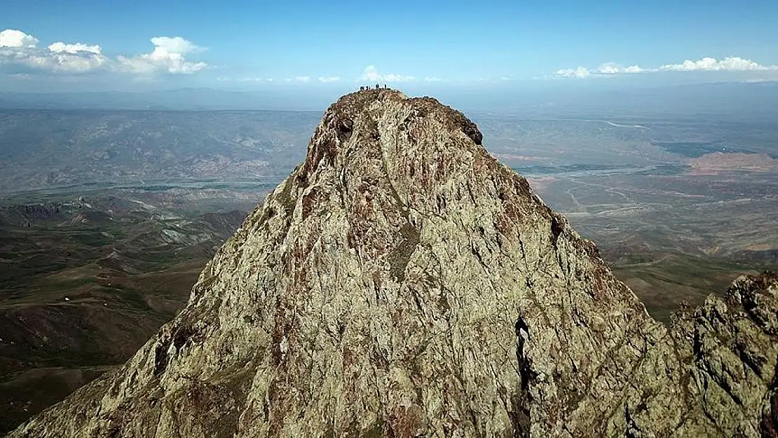
<svg viewBox="0 0 778 438"><path fill-rule="evenodd" d="M382 84L383 85L383 84ZM178 88L135 92L0 92L0 110L303 110L324 111L357 86L239 91ZM465 114L555 117L778 117L778 84L715 82L674 86L458 88L403 86L408 96L433 96Z"/></svg>

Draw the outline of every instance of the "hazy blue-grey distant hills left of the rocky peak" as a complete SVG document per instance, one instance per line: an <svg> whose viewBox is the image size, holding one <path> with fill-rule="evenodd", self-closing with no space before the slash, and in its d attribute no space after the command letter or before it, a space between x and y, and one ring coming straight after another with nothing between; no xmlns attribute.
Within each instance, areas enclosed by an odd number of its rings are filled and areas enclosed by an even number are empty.
<svg viewBox="0 0 778 438"><path fill-rule="evenodd" d="M307 111L0 110L0 191L281 177L303 159L318 117Z"/></svg>

